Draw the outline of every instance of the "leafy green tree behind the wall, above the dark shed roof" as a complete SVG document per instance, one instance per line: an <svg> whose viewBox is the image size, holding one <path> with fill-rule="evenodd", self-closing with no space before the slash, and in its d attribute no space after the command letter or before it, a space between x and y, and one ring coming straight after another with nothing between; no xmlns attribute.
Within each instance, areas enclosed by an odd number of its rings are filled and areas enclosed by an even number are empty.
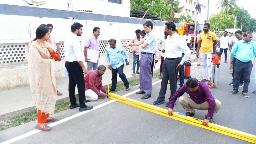
<svg viewBox="0 0 256 144"><path fill-rule="evenodd" d="M131 10L141 10L146 12L148 9L148 14L154 15L156 17L160 17L162 19L169 19L169 15L166 14L167 6L164 6L163 0L131 0Z"/></svg>

